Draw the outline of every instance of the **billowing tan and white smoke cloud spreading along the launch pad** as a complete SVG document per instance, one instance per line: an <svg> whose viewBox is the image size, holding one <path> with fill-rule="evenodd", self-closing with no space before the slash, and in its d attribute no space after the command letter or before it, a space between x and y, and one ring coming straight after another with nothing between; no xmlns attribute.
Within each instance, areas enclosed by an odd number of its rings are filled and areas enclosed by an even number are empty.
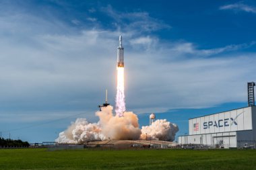
<svg viewBox="0 0 256 170"><path fill-rule="evenodd" d="M92 140L174 140L178 131L176 124L166 120L156 120L152 126L139 129L137 115L124 112L123 117L113 116L113 107L108 105L102 111L96 112L100 118L98 123L89 123L85 118L77 118L55 141L60 143L85 143Z"/></svg>

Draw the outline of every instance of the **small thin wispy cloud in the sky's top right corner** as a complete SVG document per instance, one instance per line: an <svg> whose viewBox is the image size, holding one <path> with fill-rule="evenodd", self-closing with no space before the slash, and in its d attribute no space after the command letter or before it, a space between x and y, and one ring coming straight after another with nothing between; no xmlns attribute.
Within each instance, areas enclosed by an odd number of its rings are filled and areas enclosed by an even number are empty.
<svg viewBox="0 0 256 170"><path fill-rule="evenodd" d="M222 10L230 9L230 10L234 10L234 11L245 11L245 12L249 12L249 13L256 13L256 7L246 5L242 2L223 5L220 7L220 9L222 9Z"/></svg>

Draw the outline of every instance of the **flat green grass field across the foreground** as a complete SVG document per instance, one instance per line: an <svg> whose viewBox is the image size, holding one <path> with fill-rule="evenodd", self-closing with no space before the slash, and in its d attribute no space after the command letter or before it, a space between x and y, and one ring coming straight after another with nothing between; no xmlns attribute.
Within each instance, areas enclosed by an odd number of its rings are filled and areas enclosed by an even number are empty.
<svg viewBox="0 0 256 170"><path fill-rule="evenodd" d="M0 169L256 169L256 150L0 149Z"/></svg>

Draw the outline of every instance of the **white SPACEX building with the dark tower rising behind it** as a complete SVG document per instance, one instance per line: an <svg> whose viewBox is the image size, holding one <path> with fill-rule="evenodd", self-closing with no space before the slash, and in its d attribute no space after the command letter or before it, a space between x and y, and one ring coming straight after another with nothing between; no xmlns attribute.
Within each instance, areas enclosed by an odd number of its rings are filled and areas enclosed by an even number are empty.
<svg viewBox="0 0 256 170"><path fill-rule="evenodd" d="M179 144L241 148L256 146L255 83L248 83L249 107L189 119L189 135L179 136Z"/></svg>

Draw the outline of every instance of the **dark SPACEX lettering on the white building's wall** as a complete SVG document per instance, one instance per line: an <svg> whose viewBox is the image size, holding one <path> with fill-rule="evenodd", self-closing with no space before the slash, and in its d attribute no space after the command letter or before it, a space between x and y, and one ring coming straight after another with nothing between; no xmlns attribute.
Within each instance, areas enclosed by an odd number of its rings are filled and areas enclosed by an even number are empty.
<svg viewBox="0 0 256 170"><path fill-rule="evenodd" d="M243 114L242 112L241 114ZM209 121L209 122L203 122L203 129L211 128L211 126L216 127L216 128L221 128L224 126L237 126L236 119L238 116L241 114L238 114L236 118L226 118L226 119L220 119L220 120L214 120L214 121Z"/></svg>

